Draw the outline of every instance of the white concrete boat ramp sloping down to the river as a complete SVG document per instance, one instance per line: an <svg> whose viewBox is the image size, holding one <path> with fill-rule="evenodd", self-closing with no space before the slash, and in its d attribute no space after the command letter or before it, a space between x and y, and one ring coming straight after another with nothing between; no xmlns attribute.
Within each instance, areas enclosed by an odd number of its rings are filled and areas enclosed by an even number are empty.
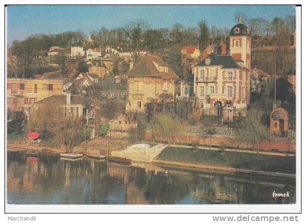
<svg viewBox="0 0 306 223"><path fill-rule="evenodd" d="M121 151L111 151L112 156L129 158L132 161L152 162L153 159L166 147L168 144L157 144L151 146L146 143L137 143L127 146Z"/></svg>

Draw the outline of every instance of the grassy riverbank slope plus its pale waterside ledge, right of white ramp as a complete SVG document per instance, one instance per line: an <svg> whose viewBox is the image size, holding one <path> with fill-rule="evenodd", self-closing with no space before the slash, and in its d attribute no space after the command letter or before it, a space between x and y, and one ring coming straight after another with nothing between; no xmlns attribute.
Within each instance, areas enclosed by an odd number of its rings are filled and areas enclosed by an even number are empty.
<svg viewBox="0 0 306 223"><path fill-rule="evenodd" d="M180 166L209 168L222 171L239 171L256 174L262 172L291 174L295 176L295 156L254 153L252 151L228 151L220 149L194 149L189 147L168 147L154 162ZM209 167L210 166L210 167ZM242 171L242 170L243 171ZM266 173L271 175L270 173Z"/></svg>

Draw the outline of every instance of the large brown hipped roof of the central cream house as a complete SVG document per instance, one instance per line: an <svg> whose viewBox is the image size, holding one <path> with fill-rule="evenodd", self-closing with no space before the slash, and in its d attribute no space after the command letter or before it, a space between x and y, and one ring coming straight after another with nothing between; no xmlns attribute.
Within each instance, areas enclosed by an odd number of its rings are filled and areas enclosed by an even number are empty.
<svg viewBox="0 0 306 223"><path fill-rule="evenodd" d="M166 66L168 68L168 72L159 71L154 65L155 62L159 66ZM127 77L136 77L136 76L154 76L161 77L162 79L177 79L178 76L170 66L165 63L158 56L148 55L141 59L132 69L130 69L127 74Z"/></svg>

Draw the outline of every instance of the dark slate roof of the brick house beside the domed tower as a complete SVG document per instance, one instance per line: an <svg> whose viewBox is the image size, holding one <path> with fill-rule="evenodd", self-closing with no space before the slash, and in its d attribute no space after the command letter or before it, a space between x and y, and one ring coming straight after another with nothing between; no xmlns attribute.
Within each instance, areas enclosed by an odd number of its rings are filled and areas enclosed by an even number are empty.
<svg viewBox="0 0 306 223"><path fill-rule="evenodd" d="M238 69L246 69L245 67L241 67L234 61L234 59L231 57L231 55L227 54L216 54L211 53L206 58L210 58L211 61L208 65L205 64L205 59L200 61L195 65L196 66L222 66L222 68L238 68Z"/></svg>

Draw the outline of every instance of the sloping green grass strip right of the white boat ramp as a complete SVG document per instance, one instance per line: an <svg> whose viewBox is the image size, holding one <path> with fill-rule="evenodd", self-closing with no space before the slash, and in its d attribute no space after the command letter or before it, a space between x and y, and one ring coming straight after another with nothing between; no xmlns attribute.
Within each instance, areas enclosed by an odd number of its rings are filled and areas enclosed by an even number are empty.
<svg viewBox="0 0 306 223"><path fill-rule="evenodd" d="M168 147L156 159L295 174L295 156Z"/></svg>

